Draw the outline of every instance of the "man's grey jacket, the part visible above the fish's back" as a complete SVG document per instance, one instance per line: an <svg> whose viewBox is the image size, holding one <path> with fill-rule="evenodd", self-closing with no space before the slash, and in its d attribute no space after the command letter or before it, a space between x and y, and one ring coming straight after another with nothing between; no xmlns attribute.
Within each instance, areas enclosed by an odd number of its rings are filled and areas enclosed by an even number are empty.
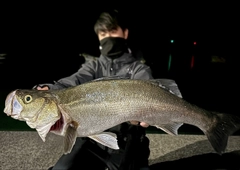
<svg viewBox="0 0 240 170"><path fill-rule="evenodd" d="M130 79L153 78L149 66L135 59L132 54L124 53L114 60L101 55L97 60L82 64L81 68L69 77L62 78L54 84L40 84L40 86L47 85L49 89L62 89L110 76L128 77Z"/></svg>

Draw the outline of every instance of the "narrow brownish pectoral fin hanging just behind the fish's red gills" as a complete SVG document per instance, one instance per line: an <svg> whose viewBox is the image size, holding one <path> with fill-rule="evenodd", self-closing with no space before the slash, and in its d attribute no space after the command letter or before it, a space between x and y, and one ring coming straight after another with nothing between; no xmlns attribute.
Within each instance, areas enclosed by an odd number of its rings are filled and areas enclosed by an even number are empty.
<svg viewBox="0 0 240 170"><path fill-rule="evenodd" d="M72 151L72 148L76 142L76 138L77 138L77 123L72 122L67 127L66 135L64 136L64 154L68 154Z"/></svg>

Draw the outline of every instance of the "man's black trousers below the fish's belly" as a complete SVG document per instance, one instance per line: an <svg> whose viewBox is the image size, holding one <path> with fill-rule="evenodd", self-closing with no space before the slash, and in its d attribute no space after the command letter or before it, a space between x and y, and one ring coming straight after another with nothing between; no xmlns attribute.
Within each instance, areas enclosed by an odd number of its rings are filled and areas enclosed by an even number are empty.
<svg viewBox="0 0 240 170"><path fill-rule="evenodd" d="M88 138L77 138L72 151L62 155L52 170L139 170L140 167L148 167L149 150L142 150L141 146L132 142L131 136L128 139L125 150L111 151ZM146 138L145 142L149 143L149 140ZM138 156L142 154L145 157L141 160Z"/></svg>

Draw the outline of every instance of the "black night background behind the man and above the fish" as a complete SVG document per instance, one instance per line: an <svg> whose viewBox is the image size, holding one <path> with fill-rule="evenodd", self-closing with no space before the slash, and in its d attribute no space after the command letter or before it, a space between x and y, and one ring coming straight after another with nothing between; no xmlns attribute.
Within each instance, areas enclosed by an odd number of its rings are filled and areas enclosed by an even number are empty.
<svg viewBox="0 0 240 170"><path fill-rule="evenodd" d="M6 54L0 64L2 105L11 90L76 72L84 62L79 54L99 56L93 25L109 8L106 4L1 5L0 53ZM154 78L174 79L183 97L200 107L239 114L237 3L117 1L111 7L126 14L129 45L142 52ZM224 62L213 62L212 56Z"/></svg>

